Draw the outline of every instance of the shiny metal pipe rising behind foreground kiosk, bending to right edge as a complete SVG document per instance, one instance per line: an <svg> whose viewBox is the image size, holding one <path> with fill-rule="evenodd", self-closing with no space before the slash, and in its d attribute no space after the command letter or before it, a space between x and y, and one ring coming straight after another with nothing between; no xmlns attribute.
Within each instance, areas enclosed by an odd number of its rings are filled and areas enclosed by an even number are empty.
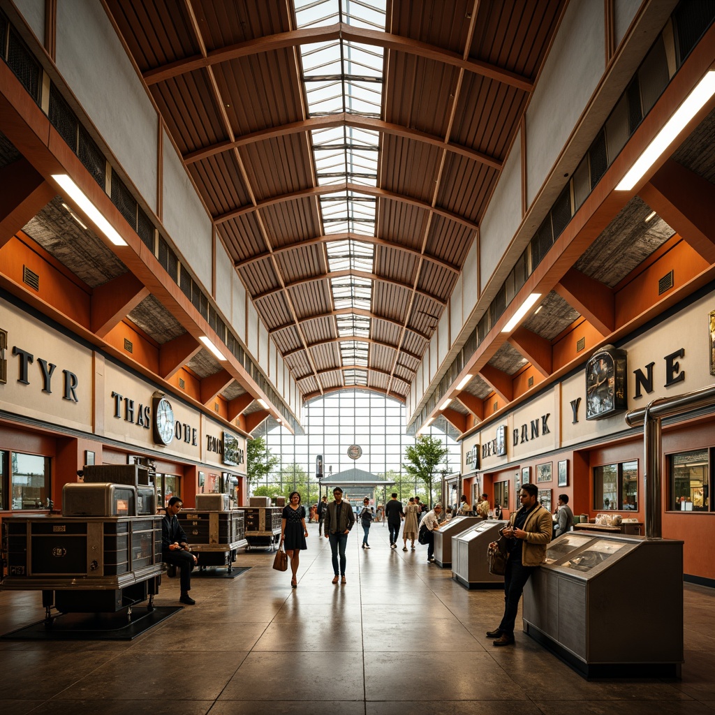
<svg viewBox="0 0 715 715"><path fill-rule="evenodd" d="M658 398L638 410L626 414L631 427L644 425L644 488L646 493L646 536L662 538L662 470L661 433L663 418L675 417L699 408L715 405L715 385L691 393Z"/></svg>

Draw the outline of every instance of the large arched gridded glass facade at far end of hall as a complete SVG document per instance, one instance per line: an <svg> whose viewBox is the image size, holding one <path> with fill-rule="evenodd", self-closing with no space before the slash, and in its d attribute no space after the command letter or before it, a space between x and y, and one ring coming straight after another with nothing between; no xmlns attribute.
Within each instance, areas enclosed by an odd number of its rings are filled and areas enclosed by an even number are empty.
<svg viewBox="0 0 715 715"><path fill-rule="evenodd" d="M405 434L405 407L398 400L365 390L342 390L315 398L303 408L302 425L305 435L294 436L280 425L263 423L254 436L265 437L267 448L280 462L266 482L252 485L252 492L260 487L297 488L308 491L310 503L317 501L318 484L315 479L315 460L322 455L325 479L353 467L386 478L394 483L394 490L403 501L418 494L427 501L427 487L415 483L402 468L405 448L415 438ZM440 430L425 430L425 435L439 438L448 448L446 463L438 465L433 479L433 497L438 494L444 473L460 469L460 445ZM352 460L347 448L358 445L362 456ZM392 488L388 488L388 493ZM259 492L260 493L260 492ZM306 495L303 503L306 503Z"/></svg>

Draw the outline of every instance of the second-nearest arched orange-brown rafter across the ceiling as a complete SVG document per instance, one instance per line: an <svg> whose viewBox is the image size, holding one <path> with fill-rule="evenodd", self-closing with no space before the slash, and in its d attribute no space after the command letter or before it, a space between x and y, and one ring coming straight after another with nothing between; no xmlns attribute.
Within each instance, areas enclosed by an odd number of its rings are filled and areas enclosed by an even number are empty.
<svg viewBox="0 0 715 715"><path fill-rule="evenodd" d="M465 147L463 144L454 144L450 142L445 144L444 139L436 134L420 132L419 129L410 129L409 127L403 126L403 124L385 122L383 119L378 119L377 117L363 117L359 114L350 114L348 112L340 112L340 114L326 114L322 117L310 117L310 119L303 119L302 122L290 122L290 124L283 124L280 127L260 129L257 132L243 134L242 137L238 137L232 142L226 141L216 142L215 144L207 144L207 146L202 147L201 149L195 149L193 152L184 154L184 162L187 164L193 164L194 162L199 162L202 159L215 156L215 154L228 152L231 149L246 147L249 144L265 142L268 139L276 139L277 137L286 137L290 134L300 134L301 132L305 132L307 134L313 129L329 129L330 127L345 126L355 127L355 129L368 129L369 131L381 132L382 134L391 134L394 137L403 137L404 139L412 139L415 142L429 144L432 147L440 147L440 149L447 147L448 152L458 154L460 157L465 157L466 159L471 159L474 162L485 164L486 166L491 167L492 169L497 169L498 171L503 169L504 162L501 161L501 159L491 157L489 154L483 154L482 152L478 152L470 147Z"/></svg>

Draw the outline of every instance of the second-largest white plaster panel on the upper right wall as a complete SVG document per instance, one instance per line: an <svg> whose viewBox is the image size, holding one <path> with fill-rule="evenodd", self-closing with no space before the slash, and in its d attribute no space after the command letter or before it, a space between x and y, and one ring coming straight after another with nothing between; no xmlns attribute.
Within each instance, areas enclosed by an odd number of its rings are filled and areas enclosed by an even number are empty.
<svg viewBox="0 0 715 715"><path fill-rule="evenodd" d="M480 285L487 284L520 223L521 132L518 132L479 229Z"/></svg>

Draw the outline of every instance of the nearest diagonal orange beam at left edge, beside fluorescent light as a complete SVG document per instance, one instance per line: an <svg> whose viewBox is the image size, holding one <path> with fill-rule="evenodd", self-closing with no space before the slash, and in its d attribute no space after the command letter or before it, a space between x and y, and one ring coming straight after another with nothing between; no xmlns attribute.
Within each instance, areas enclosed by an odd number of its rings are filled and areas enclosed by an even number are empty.
<svg viewBox="0 0 715 715"><path fill-rule="evenodd" d="M55 196L27 159L0 168L0 248Z"/></svg>

